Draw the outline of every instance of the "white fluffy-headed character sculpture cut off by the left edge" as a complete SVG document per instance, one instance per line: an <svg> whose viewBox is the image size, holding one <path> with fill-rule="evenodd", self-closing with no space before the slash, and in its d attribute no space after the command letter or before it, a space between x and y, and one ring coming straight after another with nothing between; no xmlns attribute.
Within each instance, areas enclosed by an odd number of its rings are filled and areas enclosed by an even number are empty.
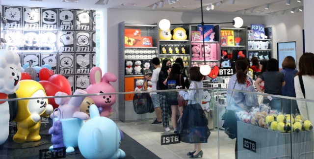
<svg viewBox="0 0 314 159"><path fill-rule="evenodd" d="M0 50L0 99L8 99L20 86L21 79L20 56L17 53ZM9 104L0 102L0 145L9 135Z"/></svg>

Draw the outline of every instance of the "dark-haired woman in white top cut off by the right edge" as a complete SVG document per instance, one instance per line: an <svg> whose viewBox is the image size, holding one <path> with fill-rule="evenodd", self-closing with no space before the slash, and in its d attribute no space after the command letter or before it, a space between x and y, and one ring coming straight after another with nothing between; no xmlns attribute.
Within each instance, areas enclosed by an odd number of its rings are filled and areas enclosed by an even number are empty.
<svg viewBox="0 0 314 159"><path fill-rule="evenodd" d="M311 99L313 100L314 94L314 54L313 53L304 53L299 60L299 72L294 77L294 88L296 98ZM301 84L299 80L301 76L304 83L305 97L303 95ZM314 103L313 102L304 102L297 101L300 114L305 120L310 120L314 122Z"/></svg>

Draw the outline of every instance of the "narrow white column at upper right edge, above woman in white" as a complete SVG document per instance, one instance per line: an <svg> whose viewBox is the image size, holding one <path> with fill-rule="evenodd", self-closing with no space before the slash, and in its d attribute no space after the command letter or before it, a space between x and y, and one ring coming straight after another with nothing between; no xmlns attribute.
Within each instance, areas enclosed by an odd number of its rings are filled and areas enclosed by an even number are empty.
<svg viewBox="0 0 314 159"><path fill-rule="evenodd" d="M314 37L314 0L303 0L304 5L304 42L305 52L314 53L313 37Z"/></svg>

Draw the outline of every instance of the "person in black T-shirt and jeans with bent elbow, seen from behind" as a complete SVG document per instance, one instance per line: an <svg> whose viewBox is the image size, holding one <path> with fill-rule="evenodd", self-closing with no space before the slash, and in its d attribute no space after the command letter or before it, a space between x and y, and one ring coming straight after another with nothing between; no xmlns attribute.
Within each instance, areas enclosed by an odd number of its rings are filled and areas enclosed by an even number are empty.
<svg viewBox="0 0 314 159"><path fill-rule="evenodd" d="M273 94L273 95L282 95L282 87L285 86L285 75L279 72L279 63L275 58L271 58L268 60L268 64L266 67L267 71L263 72L262 75L256 79L255 87L259 92L262 93L260 83L262 81L265 82L265 91L264 93ZM272 98L269 100L267 97L264 98L263 103L269 103L269 106L273 110L278 110L281 112L281 99L280 98Z"/></svg>

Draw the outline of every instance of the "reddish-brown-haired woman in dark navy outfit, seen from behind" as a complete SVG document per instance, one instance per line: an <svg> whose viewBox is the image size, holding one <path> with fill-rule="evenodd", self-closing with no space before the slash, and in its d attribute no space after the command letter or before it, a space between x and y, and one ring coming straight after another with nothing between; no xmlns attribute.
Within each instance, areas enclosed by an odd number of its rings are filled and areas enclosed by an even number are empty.
<svg viewBox="0 0 314 159"><path fill-rule="evenodd" d="M287 56L282 63L281 72L285 75L286 85L282 87L283 96L296 97L294 89L294 77L298 73L295 69L295 60L292 56ZM291 111L292 110L292 111ZM283 99L283 112L286 114L295 114L299 112L295 100Z"/></svg>

